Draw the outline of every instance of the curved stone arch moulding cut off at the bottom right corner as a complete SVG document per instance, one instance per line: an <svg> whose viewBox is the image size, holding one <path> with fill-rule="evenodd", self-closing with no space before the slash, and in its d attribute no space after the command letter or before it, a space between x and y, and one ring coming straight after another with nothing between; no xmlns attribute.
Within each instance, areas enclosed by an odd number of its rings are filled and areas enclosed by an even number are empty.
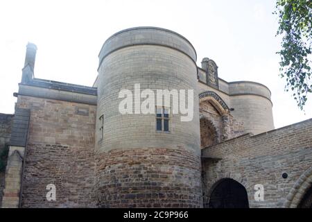
<svg viewBox="0 0 312 222"><path fill-rule="evenodd" d="M302 176L295 182L295 185L291 188L288 195L286 196L286 201L284 207L286 208L296 208L300 204L300 201L306 195L306 192L311 189L312 186L312 167L307 169Z"/></svg>

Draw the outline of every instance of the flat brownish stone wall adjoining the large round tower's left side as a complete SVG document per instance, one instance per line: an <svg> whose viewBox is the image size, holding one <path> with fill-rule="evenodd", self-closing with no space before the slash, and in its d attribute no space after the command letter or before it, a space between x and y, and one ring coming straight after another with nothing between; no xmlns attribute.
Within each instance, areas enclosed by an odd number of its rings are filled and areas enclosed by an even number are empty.
<svg viewBox="0 0 312 222"><path fill-rule="evenodd" d="M96 106L19 96L17 107L31 110L21 207L94 207Z"/></svg>

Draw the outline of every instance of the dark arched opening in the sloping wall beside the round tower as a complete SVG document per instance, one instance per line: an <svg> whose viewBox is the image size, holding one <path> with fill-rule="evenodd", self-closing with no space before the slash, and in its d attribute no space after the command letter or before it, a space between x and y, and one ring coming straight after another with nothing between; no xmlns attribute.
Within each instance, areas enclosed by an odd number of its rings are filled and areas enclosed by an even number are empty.
<svg viewBox="0 0 312 222"><path fill-rule="evenodd" d="M233 179L220 180L211 192L210 208L249 208L245 187Z"/></svg>

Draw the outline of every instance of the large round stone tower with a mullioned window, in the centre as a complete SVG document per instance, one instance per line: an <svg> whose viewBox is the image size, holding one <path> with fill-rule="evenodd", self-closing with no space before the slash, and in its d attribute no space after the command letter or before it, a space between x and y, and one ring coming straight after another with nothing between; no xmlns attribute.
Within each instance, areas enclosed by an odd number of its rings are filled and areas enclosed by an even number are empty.
<svg viewBox="0 0 312 222"><path fill-rule="evenodd" d="M132 92L125 96L131 105L121 105L122 89ZM144 89L155 92L155 105L149 104L155 113L137 109L145 101L137 92ZM181 121L187 114L173 114L181 106L173 99L159 106L157 89L193 89L193 119ZM120 112L120 106L133 113ZM202 207L198 112L196 51L185 37L164 28L138 27L108 38L98 67L98 206Z"/></svg>

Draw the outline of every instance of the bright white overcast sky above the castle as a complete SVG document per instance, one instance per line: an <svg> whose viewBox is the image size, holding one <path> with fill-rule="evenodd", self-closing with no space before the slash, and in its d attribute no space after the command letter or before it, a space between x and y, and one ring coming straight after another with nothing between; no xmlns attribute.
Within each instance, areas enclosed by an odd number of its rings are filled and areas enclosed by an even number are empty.
<svg viewBox="0 0 312 222"><path fill-rule="evenodd" d="M275 127L312 118L284 92L272 0L0 1L0 112L13 113L27 42L37 45L35 77L92 85L110 35L134 26L168 28L216 61L220 78L252 80L272 92Z"/></svg>

